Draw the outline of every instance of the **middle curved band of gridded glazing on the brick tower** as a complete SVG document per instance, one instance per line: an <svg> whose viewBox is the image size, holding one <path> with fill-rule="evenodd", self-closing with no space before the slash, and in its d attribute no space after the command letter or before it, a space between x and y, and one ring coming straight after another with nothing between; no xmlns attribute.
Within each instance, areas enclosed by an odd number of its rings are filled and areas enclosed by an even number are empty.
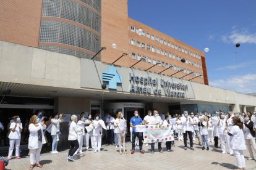
<svg viewBox="0 0 256 170"><path fill-rule="evenodd" d="M53 20L41 21L40 42L67 44L95 53L100 50L100 39L96 34L76 25Z"/></svg>

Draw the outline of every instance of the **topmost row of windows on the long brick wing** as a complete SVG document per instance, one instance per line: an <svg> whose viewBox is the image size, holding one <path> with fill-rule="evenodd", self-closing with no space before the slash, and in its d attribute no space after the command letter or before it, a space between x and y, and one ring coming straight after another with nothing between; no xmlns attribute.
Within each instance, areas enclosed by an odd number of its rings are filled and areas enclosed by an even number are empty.
<svg viewBox="0 0 256 170"><path fill-rule="evenodd" d="M139 30L140 30L140 28L136 28L135 29L135 26L130 25L130 31L132 31L134 33L136 32L137 34L139 34ZM192 57L195 57L197 59L201 59L200 55L195 54L194 52L189 51L187 49L184 49L181 46L177 46L173 42L169 42L169 41L167 41L165 39L159 38L158 36L155 36L154 34L150 34L148 32L145 33L145 31L142 31L142 36L145 36L145 37L147 37L147 38L149 38L149 39L151 39L153 41L160 42L160 44L164 44L164 45L166 45L168 47L172 47L173 49L176 49L178 51L184 52L185 54L191 55Z"/></svg>

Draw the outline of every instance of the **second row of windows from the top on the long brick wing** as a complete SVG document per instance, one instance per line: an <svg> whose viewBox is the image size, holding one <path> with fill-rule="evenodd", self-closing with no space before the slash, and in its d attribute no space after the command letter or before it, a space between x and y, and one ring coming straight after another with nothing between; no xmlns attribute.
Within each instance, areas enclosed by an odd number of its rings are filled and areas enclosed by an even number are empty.
<svg viewBox="0 0 256 170"><path fill-rule="evenodd" d="M171 52L163 51L162 49L158 49L154 46L150 46L149 44L147 44L147 46L146 46L146 44L144 42L135 41L135 39L130 39L130 44L132 44L133 46L142 47L142 49L147 49L148 51L156 52L157 54L165 55L166 57L169 57L170 59L177 59L179 61L181 61L181 59L185 59L184 57L181 57L181 56L175 55L175 54L171 54ZM197 68L202 68L202 65L197 62L193 62L193 61L186 59L186 63L190 64L194 67L197 67Z"/></svg>

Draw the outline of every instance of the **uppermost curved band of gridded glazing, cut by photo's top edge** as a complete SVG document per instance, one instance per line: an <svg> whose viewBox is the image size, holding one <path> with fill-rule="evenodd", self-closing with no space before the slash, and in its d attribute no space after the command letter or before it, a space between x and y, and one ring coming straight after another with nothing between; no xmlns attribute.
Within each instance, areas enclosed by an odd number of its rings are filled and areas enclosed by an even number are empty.
<svg viewBox="0 0 256 170"><path fill-rule="evenodd" d="M43 1L42 16L65 18L89 26L98 32L100 32L101 29L99 15L87 7L70 0Z"/></svg>

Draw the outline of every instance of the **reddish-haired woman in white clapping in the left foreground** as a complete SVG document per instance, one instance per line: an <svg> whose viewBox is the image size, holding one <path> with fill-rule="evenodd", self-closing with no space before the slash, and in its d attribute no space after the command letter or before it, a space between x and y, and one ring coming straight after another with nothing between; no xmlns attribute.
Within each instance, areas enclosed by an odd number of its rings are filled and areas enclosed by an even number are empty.
<svg viewBox="0 0 256 170"><path fill-rule="evenodd" d="M30 118L28 130L30 132L28 137L28 149L30 150L30 167L33 169L34 166L42 168L40 164L40 152L42 145L46 143L43 130L46 129L45 121L33 115Z"/></svg>

